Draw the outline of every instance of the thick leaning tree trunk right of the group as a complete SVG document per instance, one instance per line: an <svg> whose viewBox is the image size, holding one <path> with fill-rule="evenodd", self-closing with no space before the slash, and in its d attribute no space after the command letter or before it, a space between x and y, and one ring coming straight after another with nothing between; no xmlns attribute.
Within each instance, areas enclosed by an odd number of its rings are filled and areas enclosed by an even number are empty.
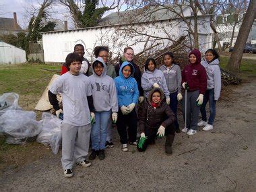
<svg viewBox="0 0 256 192"><path fill-rule="evenodd" d="M234 44L234 50L232 51L227 65L227 68L234 73L237 73L240 69L241 60L243 57L243 49L245 48L245 43L247 42L247 38L249 36L251 26L253 26L255 17L256 1L251 0L247 9L247 13L245 14L245 18L243 18L243 22L238 32L236 44Z"/></svg>

